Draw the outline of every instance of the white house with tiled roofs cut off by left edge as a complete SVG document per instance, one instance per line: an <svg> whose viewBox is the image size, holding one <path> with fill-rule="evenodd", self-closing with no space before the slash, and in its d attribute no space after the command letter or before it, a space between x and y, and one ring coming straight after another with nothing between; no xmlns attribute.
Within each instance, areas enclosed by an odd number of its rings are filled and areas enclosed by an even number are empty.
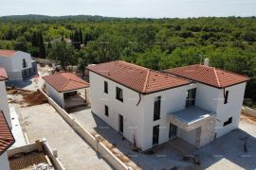
<svg viewBox="0 0 256 170"><path fill-rule="evenodd" d="M4 68L0 68L0 169L9 170L7 149L15 143L11 133L9 117L9 105L6 93L5 81L8 79Z"/></svg>

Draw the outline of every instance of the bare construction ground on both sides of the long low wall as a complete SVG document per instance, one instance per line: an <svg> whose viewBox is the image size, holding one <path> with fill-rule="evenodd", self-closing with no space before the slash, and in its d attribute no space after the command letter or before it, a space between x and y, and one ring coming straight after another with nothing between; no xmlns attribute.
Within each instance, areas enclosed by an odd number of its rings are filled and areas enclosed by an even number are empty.
<svg viewBox="0 0 256 170"><path fill-rule="evenodd" d="M80 136L67 125L62 117L44 98L30 102L28 92L9 92L10 106L16 108L21 125L30 142L46 138L53 148L57 148L59 157L67 169L111 169ZM34 93L34 95L38 95ZM25 97L24 97L25 96ZM42 104L43 103L43 104ZM30 106L30 107L29 107ZM256 168L256 121L255 117L242 114L238 129L218 138L211 144L195 151L182 152L175 147L177 143L162 144L151 152L133 151L132 144L91 113L90 108L82 107L71 110L70 115L76 118L83 127L93 135L100 134L103 144L114 153L120 153L119 159L134 168L143 169L255 169ZM245 144L247 141L247 144ZM180 147L184 147L181 144ZM183 151L186 149L183 149ZM191 154L197 159L184 161L183 157Z"/></svg>

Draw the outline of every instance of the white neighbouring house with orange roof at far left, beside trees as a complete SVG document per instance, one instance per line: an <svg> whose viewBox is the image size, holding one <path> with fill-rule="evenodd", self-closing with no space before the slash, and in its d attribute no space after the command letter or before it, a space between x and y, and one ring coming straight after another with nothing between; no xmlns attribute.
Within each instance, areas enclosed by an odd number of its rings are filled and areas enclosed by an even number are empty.
<svg viewBox="0 0 256 170"><path fill-rule="evenodd" d="M37 63L30 54L0 49L0 67L4 67L9 80L25 80L37 75Z"/></svg>

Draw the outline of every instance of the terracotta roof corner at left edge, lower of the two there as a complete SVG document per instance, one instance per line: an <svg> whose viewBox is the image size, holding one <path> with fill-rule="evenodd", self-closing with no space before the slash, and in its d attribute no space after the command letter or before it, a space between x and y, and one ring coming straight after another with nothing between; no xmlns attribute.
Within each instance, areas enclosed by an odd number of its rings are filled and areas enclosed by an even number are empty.
<svg viewBox="0 0 256 170"><path fill-rule="evenodd" d="M0 110L0 155L14 143L15 139L9 129L5 115L3 111Z"/></svg>

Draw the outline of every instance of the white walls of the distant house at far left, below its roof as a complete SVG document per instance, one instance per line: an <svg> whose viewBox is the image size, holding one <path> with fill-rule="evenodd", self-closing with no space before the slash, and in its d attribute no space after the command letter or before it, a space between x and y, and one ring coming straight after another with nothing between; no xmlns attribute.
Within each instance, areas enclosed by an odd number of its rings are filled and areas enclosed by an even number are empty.
<svg viewBox="0 0 256 170"><path fill-rule="evenodd" d="M27 63L26 67L23 65L24 59ZM4 67L6 69L9 80L23 80L24 70L29 70L32 68L32 59L30 54L17 51L11 57L0 56L0 67ZM37 73L37 70L31 69L29 72ZM29 76L29 72L27 71L27 76ZM33 75L33 73L31 73L31 75Z"/></svg>

